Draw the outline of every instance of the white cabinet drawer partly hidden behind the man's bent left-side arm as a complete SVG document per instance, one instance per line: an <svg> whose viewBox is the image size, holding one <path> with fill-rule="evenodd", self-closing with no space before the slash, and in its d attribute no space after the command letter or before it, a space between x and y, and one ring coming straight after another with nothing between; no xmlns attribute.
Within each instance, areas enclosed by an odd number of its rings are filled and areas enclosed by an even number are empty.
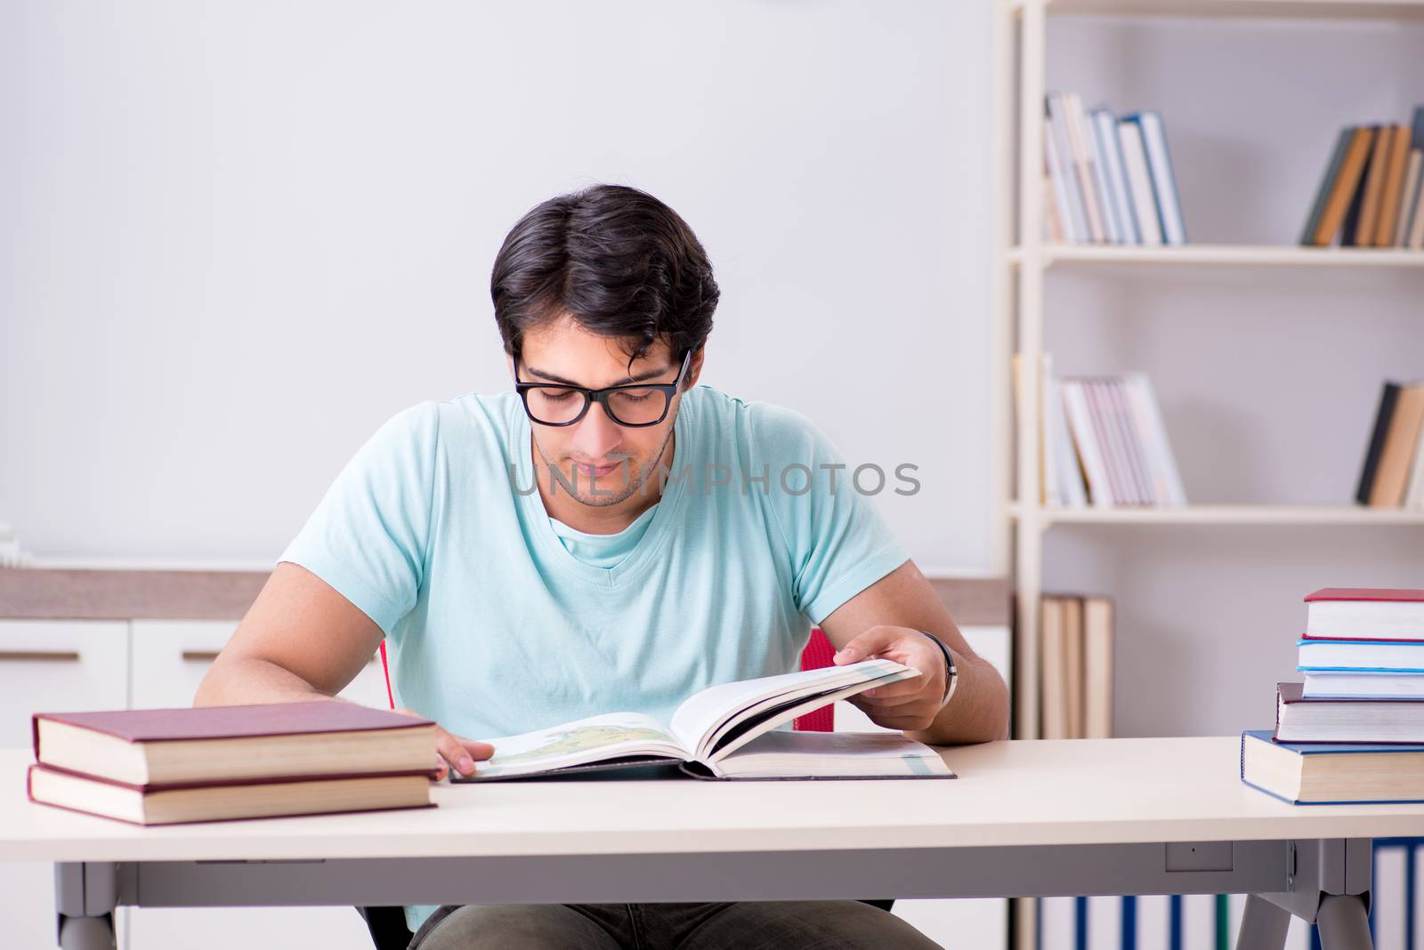
<svg viewBox="0 0 1424 950"><path fill-rule="evenodd" d="M236 620L134 620L132 705L192 705L198 684L236 629ZM340 695L363 705L390 705L380 654L372 654Z"/></svg>

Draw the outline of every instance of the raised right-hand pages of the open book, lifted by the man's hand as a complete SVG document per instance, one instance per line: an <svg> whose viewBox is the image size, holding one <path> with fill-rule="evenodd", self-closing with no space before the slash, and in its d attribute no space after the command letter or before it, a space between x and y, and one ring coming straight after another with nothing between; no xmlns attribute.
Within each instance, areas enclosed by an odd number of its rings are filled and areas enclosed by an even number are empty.
<svg viewBox="0 0 1424 950"><path fill-rule="evenodd" d="M893 681L887 678L891 676L907 678L920 676L920 671L894 660L862 660L843 667L802 670L800 673L783 673L759 680L723 683L693 694L678 707L678 711L672 714L672 735L691 751L689 758L703 758L711 754L716 734L728 724L740 724L766 710L785 710L790 705L799 708L797 700L813 701L816 697L830 695L844 688L852 688L850 695L853 695L871 688L877 681ZM830 701L826 700L826 703ZM816 705L824 705L824 703ZM795 715L796 712L776 722L768 722L766 728L770 730L779 722L795 718Z"/></svg>

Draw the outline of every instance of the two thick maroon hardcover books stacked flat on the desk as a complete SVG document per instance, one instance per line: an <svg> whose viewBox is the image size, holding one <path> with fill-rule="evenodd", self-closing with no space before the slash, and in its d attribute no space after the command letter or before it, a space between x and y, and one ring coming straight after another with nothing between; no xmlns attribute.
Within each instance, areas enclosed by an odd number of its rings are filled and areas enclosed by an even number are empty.
<svg viewBox="0 0 1424 950"><path fill-rule="evenodd" d="M135 825L430 808L434 728L343 700L37 712L26 784Z"/></svg>

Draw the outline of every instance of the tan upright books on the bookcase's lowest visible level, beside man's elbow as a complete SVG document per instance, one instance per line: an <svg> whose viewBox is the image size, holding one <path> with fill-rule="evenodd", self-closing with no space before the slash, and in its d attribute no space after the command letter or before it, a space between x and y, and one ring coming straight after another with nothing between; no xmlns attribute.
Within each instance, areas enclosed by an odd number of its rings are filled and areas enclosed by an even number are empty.
<svg viewBox="0 0 1424 950"><path fill-rule="evenodd" d="M1112 737L1114 604L1109 597L1044 594L1040 610L1040 735Z"/></svg>

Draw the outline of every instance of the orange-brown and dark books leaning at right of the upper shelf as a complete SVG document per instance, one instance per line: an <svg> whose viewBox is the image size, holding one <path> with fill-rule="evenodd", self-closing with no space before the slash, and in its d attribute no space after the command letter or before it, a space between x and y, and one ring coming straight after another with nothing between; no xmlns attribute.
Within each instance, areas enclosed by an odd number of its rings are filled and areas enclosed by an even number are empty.
<svg viewBox="0 0 1424 950"><path fill-rule="evenodd" d="M1424 249L1424 105L1408 125L1340 131L1300 243Z"/></svg>

